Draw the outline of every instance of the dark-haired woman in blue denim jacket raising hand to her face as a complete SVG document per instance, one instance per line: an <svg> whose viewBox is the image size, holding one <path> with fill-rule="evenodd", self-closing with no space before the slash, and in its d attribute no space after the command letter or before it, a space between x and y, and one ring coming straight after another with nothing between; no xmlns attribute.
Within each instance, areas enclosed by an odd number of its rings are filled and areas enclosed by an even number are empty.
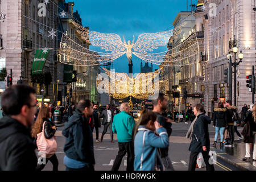
<svg viewBox="0 0 256 182"><path fill-rule="evenodd" d="M135 127L134 171L163 170L158 148L169 146L166 129L156 121L156 114L143 110Z"/></svg>

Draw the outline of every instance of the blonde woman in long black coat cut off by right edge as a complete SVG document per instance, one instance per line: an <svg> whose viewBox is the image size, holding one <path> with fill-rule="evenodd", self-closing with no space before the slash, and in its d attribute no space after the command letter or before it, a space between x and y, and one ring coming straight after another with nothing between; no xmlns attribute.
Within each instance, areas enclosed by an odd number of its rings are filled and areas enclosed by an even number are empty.
<svg viewBox="0 0 256 182"><path fill-rule="evenodd" d="M245 120L242 122L243 127L242 135L243 142L245 142L245 158L242 160L250 162L250 148L251 143L254 143L253 147L253 160L256 160L256 104L250 105L250 110L248 111Z"/></svg>

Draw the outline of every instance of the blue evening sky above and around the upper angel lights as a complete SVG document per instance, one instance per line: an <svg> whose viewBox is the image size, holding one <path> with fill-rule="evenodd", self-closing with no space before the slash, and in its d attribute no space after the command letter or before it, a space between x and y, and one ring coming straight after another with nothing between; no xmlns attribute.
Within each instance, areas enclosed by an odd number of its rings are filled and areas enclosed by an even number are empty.
<svg viewBox="0 0 256 182"><path fill-rule="evenodd" d="M68 2L66 0L66 2ZM82 18L82 25L89 30L102 33L123 35L127 40L135 42L140 34L170 30L172 22L180 11L187 11L187 0L74 0L74 11L78 10ZM197 0L193 0L197 4ZM191 10L188 0L188 10ZM90 46L93 51L100 51L98 47ZM166 51L162 47L155 52ZM141 71L141 59L133 55L133 73ZM144 65L144 61L142 61ZM114 60L115 72L128 73L126 54ZM158 65L153 64L154 69Z"/></svg>

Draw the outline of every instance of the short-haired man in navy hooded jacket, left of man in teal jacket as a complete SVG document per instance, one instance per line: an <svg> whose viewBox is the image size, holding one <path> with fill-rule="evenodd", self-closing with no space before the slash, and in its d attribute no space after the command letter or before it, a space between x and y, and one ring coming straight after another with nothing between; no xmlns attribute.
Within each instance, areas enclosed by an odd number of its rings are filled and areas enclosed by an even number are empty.
<svg viewBox="0 0 256 182"><path fill-rule="evenodd" d="M65 123L62 134L66 137L64 164L67 171L94 171L93 136L86 119L92 114L92 102L80 100L75 113Z"/></svg>

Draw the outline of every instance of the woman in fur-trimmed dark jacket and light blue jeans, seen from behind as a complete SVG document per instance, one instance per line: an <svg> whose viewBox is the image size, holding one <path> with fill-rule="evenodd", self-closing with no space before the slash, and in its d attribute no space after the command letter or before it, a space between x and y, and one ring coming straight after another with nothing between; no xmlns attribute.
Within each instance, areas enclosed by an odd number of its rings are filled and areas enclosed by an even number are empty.
<svg viewBox="0 0 256 182"><path fill-rule="evenodd" d="M220 147L223 147L224 131L227 126L226 109L222 102L218 103L218 107L214 108L213 127L215 127L215 137L213 146L216 147L218 134L220 133Z"/></svg>

